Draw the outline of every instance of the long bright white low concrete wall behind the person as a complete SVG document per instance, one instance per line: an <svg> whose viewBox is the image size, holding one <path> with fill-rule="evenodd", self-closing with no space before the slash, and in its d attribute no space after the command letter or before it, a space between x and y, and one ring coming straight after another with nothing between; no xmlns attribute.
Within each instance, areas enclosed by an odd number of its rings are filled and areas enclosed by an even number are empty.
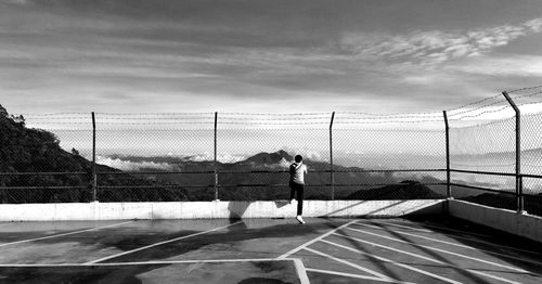
<svg viewBox="0 0 542 284"><path fill-rule="evenodd" d="M305 217L400 217L441 214L442 199L430 201L305 201ZM296 203L179 202L2 204L0 221L282 218L296 215Z"/></svg>

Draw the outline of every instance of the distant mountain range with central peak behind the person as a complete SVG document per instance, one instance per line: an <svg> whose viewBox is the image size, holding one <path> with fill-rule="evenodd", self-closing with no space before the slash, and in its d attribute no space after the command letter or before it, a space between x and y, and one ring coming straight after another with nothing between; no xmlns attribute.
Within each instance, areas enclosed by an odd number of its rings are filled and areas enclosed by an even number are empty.
<svg viewBox="0 0 542 284"><path fill-rule="evenodd" d="M168 163L182 175L156 175L155 179L160 182L186 185L205 186L214 184L214 163L194 162L190 157L134 157L115 156L121 160L134 163ZM222 201L268 201L287 199L289 189L287 188L289 163L293 155L285 151L273 153L257 153L244 160L236 163L217 163L219 175L219 198ZM309 168L307 177L306 198L331 199L331 188L324 184L331 183L330 164L327 162L311 160L306 158L305 164ZM144 170L144 169L141 169ZM401 181L393 172L363 172L362 168L343 167L334 165L336 199L421 199L441 198L442 194L428 188L421 182L440 183L441 180L433 177L423 177L420 181ZM157 171L154 169L153 171ZM199 173L188 173L188 172ZM266 172L270 171L270 172ZM206 173L207 172L207 173ZM387 186L359 186L357 184L390 184ZM267 186L267 185L272 186ZM370 188L360 190L360 188ZM214 190L189 189L190 199L212 199Z"/></svg>

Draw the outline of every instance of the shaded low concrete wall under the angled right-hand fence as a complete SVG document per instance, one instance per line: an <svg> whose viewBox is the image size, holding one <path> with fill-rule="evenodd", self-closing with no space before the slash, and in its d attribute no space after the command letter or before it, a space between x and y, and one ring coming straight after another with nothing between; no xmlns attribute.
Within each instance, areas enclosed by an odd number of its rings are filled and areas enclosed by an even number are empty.
<svg viewBox="0 0 542 284"><path fill-rule="evenodd" d="M541 217L462 201L450 201L450 215L542 243Z"/></svg>

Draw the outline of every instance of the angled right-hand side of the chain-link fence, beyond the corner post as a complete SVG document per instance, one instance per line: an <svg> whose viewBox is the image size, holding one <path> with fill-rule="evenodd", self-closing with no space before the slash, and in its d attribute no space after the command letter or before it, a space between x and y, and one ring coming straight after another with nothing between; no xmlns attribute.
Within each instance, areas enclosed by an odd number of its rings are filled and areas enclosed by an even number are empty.
<svg viewBox="0 0 542 284"><path fill-rule="evenodd" d="M448 112L452 196L542 215L542 87Z"/></svg>

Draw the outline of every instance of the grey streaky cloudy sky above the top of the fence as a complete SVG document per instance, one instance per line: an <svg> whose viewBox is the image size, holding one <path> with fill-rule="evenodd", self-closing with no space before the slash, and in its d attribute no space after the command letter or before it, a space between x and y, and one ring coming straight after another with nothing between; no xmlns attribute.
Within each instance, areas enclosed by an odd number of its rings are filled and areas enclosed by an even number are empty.
<svg viewBox="0 0 542 284"><path fill-rule="evenodd" d="M542 83L540 0L0 0L0 104L439 112Z"/></svg>

